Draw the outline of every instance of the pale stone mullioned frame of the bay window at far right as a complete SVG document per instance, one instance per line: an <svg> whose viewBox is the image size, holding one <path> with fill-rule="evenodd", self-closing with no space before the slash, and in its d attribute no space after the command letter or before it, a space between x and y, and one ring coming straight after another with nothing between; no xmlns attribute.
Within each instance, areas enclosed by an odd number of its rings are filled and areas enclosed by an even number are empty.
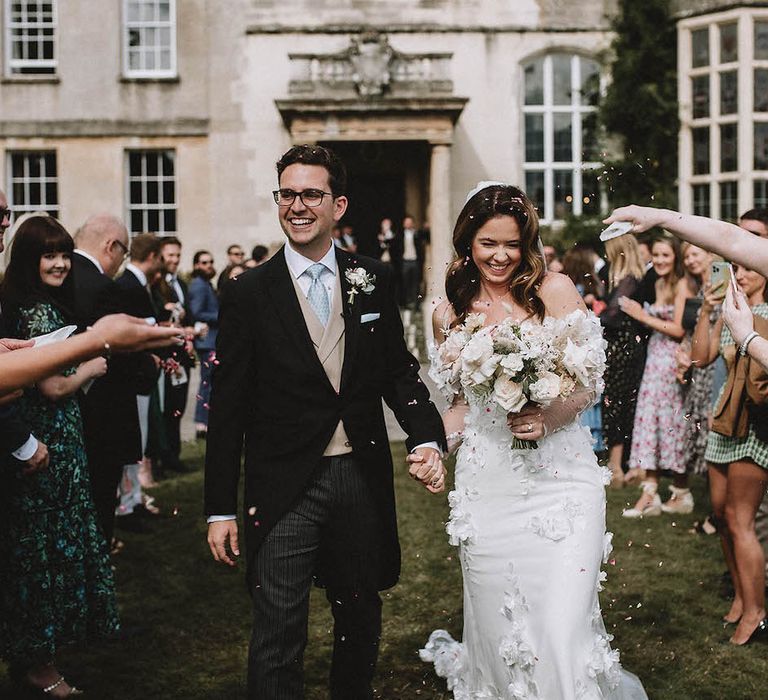
<svg viewBox="0 0 768 700"><path fill-rule="evenodd" d="M681 20L678 25L678 94L680 103L680 208L687 213L735 220L738 214L756 206L756 192L761 183L768 183L768 169L755 169L756 124L768 125L768 111L756 112L754 101L755 71L768 69L768 59L755 59L755 24L768 23L765 8L742 7L713 12ZM721 61L720 28L737 27L738 57L735 61ZM709 33L709 62L694 67L692 36L698 30ZM735 113L721 113L721 80L724 73L736 74L738 94ZM697 110L705 116L694 117L693 81L708 80L708 109ZM736 167L722 170L724 163L732 161L722 151L721 134L728 126L736 127ZM723 129L723 127L726 129ZM768 129L768 126L764 127ZM709 171L694 171L694 130L709 132ZM766 154L768 156L768 154ZM736 206L730 196L736 187ZM706 188L704 187L706 186ZM701 193L709 192L709 202ZM723 197L723 193L728 196Z"/></svg>

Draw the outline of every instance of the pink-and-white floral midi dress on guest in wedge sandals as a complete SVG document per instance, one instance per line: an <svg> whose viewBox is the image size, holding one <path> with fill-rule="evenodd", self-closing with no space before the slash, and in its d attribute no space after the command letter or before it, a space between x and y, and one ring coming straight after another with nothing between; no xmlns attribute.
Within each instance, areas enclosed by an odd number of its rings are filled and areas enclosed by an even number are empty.
<svg viewBox="0 0 768 700"><path fill-rule="evenodd" d="M671 321L672 304L648 307L656 318ZM683 391L677 381L675 353L678 342L653 331L648 340L643 380L637 395L632 430L632 469L671 471L684 474L688 431L683 412Z"/></svg>

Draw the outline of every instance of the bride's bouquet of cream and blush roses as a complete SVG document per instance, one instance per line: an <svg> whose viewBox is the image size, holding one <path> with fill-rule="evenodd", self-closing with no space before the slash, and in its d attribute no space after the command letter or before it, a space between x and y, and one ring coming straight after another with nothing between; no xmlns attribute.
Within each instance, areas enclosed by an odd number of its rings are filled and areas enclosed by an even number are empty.
<svg viewBox="0 0 768 700"><path fill-rule="evenodd" d="M486 326L484 314L469 314L434 351L429 376L449 401L463 392L471 403L511 413L529 401L548 406L579 388L599 393L604 369L605 341L594 315L574 311L543 323ZM537 445L514 438L512 447Z"/></svg>

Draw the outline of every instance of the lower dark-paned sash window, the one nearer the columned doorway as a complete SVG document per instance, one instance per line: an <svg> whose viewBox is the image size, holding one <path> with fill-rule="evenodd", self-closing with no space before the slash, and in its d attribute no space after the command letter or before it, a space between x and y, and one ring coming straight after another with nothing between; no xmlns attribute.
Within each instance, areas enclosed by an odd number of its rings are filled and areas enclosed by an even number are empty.
<svg viewBox="0 0 768 700"><path fill-rule="evenodd" d="M131 233L176 233L176 154L128 151L128 227Z"/></svg>

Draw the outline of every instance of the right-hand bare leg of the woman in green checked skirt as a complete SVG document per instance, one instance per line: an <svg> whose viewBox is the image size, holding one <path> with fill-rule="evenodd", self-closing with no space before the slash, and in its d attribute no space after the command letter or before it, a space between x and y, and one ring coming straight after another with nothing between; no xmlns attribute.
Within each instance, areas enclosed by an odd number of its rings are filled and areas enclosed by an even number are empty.
<svg viewBox="0 0 768 700"><path fill-rule="evenodd" d="M755 513L766 483L768 472L754 462L734 462L728 468L725 517L743 601L733 644L744 644L765 617L765 554L755 534Z"/></svg>

